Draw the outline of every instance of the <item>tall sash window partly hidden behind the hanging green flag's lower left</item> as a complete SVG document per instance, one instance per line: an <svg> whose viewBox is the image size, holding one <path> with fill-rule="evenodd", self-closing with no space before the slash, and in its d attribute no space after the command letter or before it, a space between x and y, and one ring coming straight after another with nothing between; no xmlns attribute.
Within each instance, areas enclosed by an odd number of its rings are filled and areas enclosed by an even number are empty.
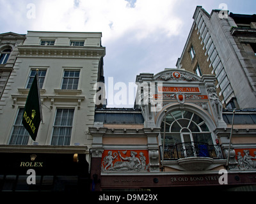
<svg viewBox="0 0 256 204"><path fill-rule="evenodd" d="M22 124L23 112L24 108L20 108L13 126L10 145L28 145L29 133Z"/></svg>

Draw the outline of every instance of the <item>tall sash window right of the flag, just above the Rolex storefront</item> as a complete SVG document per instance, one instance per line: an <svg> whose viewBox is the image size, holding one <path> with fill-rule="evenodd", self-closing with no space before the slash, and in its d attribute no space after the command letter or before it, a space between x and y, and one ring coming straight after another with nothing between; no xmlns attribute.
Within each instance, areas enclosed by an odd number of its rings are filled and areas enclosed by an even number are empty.
<svg viewBox="0 0 256 204"><path fill-rule="evenodd" d="M70 145L74 109L57 109L51 145Z"/></svg>

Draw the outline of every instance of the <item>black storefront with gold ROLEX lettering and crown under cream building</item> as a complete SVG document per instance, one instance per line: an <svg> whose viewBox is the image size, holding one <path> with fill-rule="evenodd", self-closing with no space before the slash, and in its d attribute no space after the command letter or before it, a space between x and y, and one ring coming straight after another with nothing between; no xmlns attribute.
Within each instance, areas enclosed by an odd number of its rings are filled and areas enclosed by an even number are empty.
<svg viewBox="0 0 256 204"><path fill-rule="evenodd" d="M35 152L0 152L0 191L88 190L86 154Z"/></svg>

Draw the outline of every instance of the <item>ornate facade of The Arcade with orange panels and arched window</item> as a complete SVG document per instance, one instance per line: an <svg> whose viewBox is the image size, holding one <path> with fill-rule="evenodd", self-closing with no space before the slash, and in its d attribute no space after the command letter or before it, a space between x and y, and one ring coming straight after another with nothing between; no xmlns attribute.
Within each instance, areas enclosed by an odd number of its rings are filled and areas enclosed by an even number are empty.
<svg viewBox="0 0 256 204"><path fill-rule="evenodd" d="M237 151L244 157L241 148L250 148L248 157L255 148L255 120L248 124L242 119L246 113L254 118L253 110L237 113L228 156L232 112L223 113L213 75L165 69L141 73L136 82L133 110L96 111L90 128L93 191L253 188L255 168L241 170L237 161ZM220 182L222 171L227 172L226 185Z"/></svg>

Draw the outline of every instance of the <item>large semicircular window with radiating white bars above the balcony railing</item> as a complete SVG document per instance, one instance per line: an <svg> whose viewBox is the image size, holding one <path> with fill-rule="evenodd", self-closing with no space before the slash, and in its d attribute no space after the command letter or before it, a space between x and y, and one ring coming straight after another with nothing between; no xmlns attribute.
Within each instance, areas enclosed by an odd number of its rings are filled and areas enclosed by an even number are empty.
<svg viewBox="0 0 256 204"><path fill-rule="evenodd" d="M212 135L205 121L196 113L177 110L166 114L165 145L186 142L204 142L213 145ZM163 143L164 119L161 123Z"/></svg>

